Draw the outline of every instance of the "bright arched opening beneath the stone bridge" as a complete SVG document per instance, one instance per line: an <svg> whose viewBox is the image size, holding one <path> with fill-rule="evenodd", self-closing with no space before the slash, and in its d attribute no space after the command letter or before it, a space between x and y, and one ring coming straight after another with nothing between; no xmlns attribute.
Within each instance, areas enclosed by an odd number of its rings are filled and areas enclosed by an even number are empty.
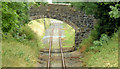
<svg viewBox="0 0 120 69"><path fill-rule="evenodd" d="M38 35L38 46L40 51L48 52L49 40L52 32L52 52L60 52L58 37L61 33L62 47L64 52L74 51L75 29L68 23L52 18L41 18L30 21L28 25ZM52 27L54 30L52 31ZM59 29L60 28L60 29ZM60 31L60 32L59 32Z"/></svg>

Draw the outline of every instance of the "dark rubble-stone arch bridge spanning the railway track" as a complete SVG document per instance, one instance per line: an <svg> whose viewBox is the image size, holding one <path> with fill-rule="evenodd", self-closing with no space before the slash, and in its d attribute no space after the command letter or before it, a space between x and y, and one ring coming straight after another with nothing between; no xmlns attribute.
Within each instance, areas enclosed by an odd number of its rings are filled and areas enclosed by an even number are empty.
<svg viewBox="0 0 120 69"><path fill-rule="evenodd" d="M84 38L87 38L94 27L94 17L85 15L70 5L48 4L30 8L30 19L53 18L66 22L75 29L75 49Z"/></svg>

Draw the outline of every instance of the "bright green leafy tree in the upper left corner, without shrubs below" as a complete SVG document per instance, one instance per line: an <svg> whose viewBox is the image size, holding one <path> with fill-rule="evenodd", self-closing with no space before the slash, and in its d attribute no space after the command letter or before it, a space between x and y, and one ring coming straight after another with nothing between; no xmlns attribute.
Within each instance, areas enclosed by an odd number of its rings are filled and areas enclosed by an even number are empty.
<svg viewBox="0 0 120 69"><path fill-rule="evenodd" d="M19 29L28 23L28 3L2 2L2 31Z"/></svg>

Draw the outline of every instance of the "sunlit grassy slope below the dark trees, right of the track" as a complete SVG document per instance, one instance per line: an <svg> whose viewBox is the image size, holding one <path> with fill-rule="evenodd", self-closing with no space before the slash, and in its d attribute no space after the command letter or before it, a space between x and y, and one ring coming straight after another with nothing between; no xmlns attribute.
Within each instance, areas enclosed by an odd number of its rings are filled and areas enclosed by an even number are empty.
<svg viewBox="0 0 120 69"><path fill-rule="evenodd" d="M103 37L101 37L103 38ZM91 45L84 52L84 64L86 67L118 67L118 32L102 46Z"/></svg>

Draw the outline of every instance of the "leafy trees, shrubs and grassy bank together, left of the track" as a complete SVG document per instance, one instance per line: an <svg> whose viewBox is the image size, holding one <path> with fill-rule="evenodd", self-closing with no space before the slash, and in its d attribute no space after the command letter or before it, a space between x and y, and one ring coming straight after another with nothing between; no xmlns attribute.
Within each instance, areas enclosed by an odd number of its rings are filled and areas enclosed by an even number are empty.
<svg viewBox="0 0 120 69"><path fill-rule="evenodd" d="M38 37L28 26L34 3L2 2L2 66L34 67L39 55Z"/></svg>

